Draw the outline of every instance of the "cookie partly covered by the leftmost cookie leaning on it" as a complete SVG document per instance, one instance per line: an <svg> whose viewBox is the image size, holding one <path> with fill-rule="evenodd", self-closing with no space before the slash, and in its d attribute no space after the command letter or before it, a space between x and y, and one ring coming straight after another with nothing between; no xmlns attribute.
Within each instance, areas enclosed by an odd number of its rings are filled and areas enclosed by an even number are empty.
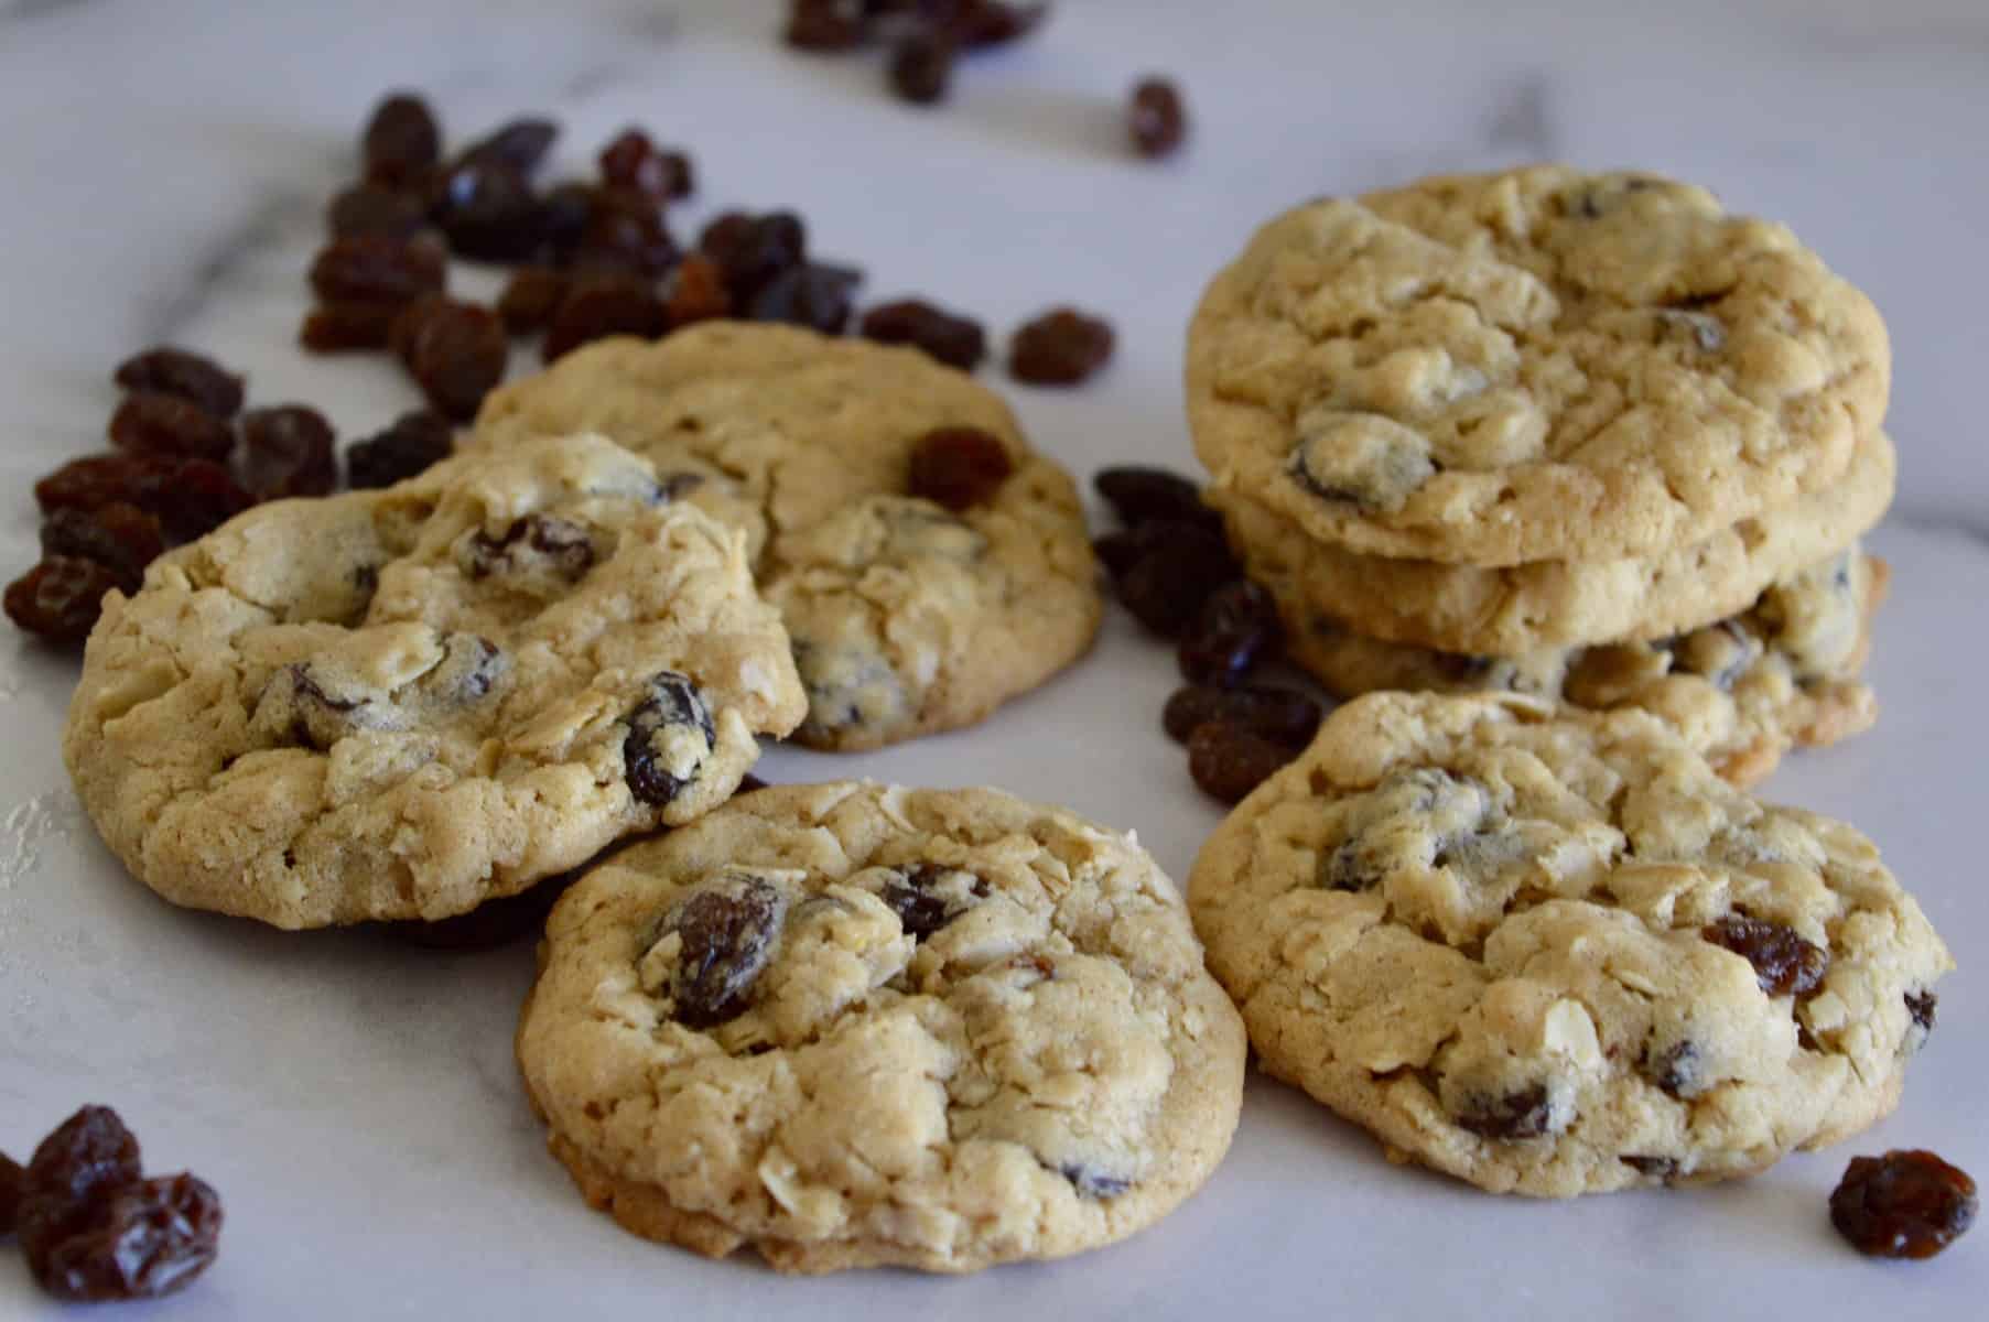
<svg viewBox="0 0 1989 1322"><path fill-rule="evenodd" d="M1012 461L985 503L909 495L913 445L975 427ZM591 429L698 483L744 527L794 636L804 744L865 749L971 726L1084 654L1100 598L1070 477L1008 408L909 348L710 322L609 340L483 406L469 445Z"/></svg>

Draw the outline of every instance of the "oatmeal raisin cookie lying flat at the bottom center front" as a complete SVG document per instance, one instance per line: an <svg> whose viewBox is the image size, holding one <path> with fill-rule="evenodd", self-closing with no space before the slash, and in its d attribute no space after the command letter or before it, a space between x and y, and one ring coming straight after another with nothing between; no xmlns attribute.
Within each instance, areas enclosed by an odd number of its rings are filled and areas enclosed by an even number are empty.
<svg viewBox="0 0 1989 1322"><path fill-rule="evenodd" d="M740 795L583 877L517 1030L589 1203L790 1272L1124 1239L1221 1161L1243 1052L1130 835L853 781Z"/></svg>

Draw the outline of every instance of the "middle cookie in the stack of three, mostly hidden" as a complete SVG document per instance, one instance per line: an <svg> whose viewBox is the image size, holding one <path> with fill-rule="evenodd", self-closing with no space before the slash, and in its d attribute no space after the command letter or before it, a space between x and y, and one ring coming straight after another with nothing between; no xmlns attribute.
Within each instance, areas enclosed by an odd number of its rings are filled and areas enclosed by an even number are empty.
<svg viewBox="0 0 1989 1322"><path fill-rule="evenodd" d="M1534 561L1502 569L1388 561L1315 541L1237 491L1213 495L1253 578L1283 580L1309 616L1440 652L1520 656L1669 638L1740 614L1780 578L1826 561L1892 503L1894 447L1860 441L1850 473L1794 505L1653 559Z"/></svg>

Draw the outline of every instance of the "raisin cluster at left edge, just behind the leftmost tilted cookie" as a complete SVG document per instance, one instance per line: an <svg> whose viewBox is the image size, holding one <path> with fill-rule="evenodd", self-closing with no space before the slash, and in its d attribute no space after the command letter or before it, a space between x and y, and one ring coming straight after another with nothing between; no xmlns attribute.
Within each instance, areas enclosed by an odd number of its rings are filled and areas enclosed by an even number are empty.
<svg viewBox="0 0 1989 1322"><path fill-rule="evenodd" d="M338 489L338 437L304 404L243 412L243 378L181 348L151 348L113 376L111 451L34 485L42 561L6 588L6 614L50 642L82 642L103 594L135 592L167 547L261 501ZM414 437L420 437L418 441ZM450 453L448 421L410 413L352 447L352 485L388 485Z"/></svg>

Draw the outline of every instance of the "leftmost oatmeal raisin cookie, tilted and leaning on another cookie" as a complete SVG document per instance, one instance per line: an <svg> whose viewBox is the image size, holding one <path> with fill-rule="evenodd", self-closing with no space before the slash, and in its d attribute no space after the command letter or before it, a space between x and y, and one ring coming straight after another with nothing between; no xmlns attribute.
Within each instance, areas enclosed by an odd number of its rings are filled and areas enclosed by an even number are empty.
<svg viewBox="0 0 1989 1322"><path fill-rule="evenodd" d="M736 533L601 437L261 505L111 592L62 751L193 909L446 918L724 803L806 698Z"/></svg>

